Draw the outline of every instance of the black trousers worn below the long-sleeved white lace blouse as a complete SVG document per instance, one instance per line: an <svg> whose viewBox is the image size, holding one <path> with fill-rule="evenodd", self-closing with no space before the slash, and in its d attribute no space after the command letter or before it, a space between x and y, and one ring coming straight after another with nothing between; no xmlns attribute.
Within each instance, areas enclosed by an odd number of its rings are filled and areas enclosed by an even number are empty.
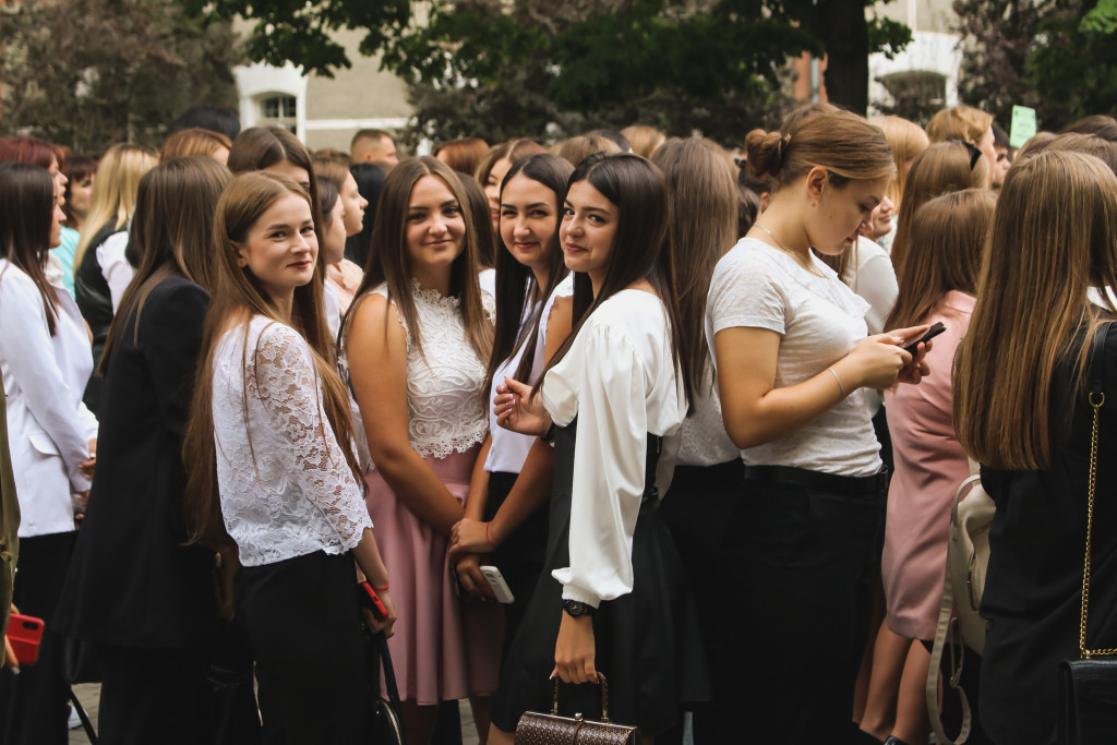
<svg viewBox="0 0 1117 745"><path fill-rule="evenodd" d="M347 554L323 552L237 574L268 745L367 738L371 694Z"/></svg>

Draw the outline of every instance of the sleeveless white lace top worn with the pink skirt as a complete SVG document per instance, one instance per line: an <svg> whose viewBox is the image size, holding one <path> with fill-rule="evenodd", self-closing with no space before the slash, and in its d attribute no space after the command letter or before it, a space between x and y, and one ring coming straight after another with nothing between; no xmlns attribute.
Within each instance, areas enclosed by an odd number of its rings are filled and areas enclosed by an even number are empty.
<svg viewBox="0 0 1117 745"><path fill-rule="evenodd" d="M483 442L488 433L488 407L481 395L487 360L477 356L466 338L458 298L423 289L416 280L411 289L421 354L407 321L397 314L408 340L408 439L423 458L446 458ZM388 285L372 292L388 297ZM481 292L481 303L491 323L496 309L493 296Z"/></svg>

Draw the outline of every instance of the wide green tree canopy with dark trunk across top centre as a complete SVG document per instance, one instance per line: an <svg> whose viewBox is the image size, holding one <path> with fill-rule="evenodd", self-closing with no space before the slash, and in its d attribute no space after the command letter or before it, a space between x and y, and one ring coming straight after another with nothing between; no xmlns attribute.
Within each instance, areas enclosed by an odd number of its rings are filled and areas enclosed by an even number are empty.
<svg viewBox="0 0 1117 745"><path fill-rule="evenodd" d="M784 105L789 56L830 52L828 92L863 111L868 54L904 26L866 20L867 0L190 0L257 20L249 55L330 74L331 38L365 29L362 54L411 82L413 137L552 137L641 122L739 144Z"/></svg>

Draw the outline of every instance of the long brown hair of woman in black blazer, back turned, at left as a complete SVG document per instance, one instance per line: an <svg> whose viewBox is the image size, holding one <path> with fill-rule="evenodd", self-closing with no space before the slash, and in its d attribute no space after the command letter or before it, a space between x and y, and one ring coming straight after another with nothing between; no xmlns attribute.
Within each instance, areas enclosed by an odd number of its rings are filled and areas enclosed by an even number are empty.
<svg viewBox="0 0 1117 745"><path fill-rule="evenodd" d="M104 374L124 319L135 308L135 338L140 314L151 290L170 276L180 276L213 292L213 211L231 179L229 169L206 155L175 157L156 165L140 180L128 251L135 275L124 290L108 328L97 370Z"/></svg>

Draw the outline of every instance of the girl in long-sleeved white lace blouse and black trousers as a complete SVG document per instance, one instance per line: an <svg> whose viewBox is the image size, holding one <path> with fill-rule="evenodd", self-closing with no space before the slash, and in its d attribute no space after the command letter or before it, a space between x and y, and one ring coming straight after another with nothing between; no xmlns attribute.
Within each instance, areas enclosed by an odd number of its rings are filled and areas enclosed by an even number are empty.
<svg viewBox="0 0 1117 745"><path fill-rule="evenodd" d="M353 560L394 606L326 362L306 191L246 173L217 207L217 288L184 456L197 536L237 557L266 742L354 743L370 703ZM214 488L216 487L216 488Z"/></svg>

